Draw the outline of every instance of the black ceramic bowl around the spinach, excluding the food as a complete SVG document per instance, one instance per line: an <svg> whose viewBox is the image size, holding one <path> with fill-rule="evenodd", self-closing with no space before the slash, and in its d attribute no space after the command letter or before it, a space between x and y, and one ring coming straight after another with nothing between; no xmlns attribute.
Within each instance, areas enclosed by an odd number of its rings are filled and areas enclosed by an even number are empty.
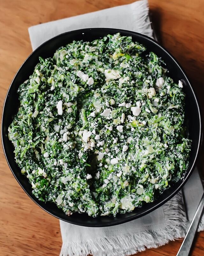
<svg viewBox="0 0 204 256"><path fill-rule="evenodd" d="M17 89L21 83L23 83L28 77L33 73L35 65L39 61L39 56L43 58L52 57L60 46L71 43L73 40L84 40L84 41L92 41L97 38L101 38L106 36L107 34L115 34L120 32L123 36L132 36L133 41L137 41L141 44L144 44L147 48L147 52L152 51L155 52L159 57L161 57L167 65L167 68L170 72L170 76L173 78L175 82L182 80L184 84L184 91L186 93L186 117L189 121L189 138L193 141L192 149L190 153L189 159L189 167L184 175L183 179L180 180L177 184L168 188L164 191L164 193L159 196L159 198L153 203L145 204L142 207L135 208L133 212L128 212L125 214L118 214L116 217L111 216L103 216L103 217L89 217L87 214L79 214L73 213L71 216L67 216L62 212L62 210L58 209L56 204L54 203L43 203L40 202L35 196L32 194L31 184L28 182L26 176L22 175L20 169L18 168L13 153L13 145L11 141L8 139L8 127L12 122L13 116L18 111L19 101ZM143 36L141 34L120 30L120 29L110 29L110 28L89 28L89 29L80 29L71 32L63 33L59 36L56 36L44 44L41 44L23 63L23 65L19 68L17 74L15 75L11 85L9 87L8 93L6 95L6 99L4 102L3 109L3 117L2 117L2 143L4 148L4 154L6 156L6 160L9 164L13 175L16 180L20 184L20 186L24 189L30 198L38 204L42 209L46 212L52 214L58 219L88 227L105 227L117 225L120 223L124 223L130 220L134 220L145 214L154 211L159 206L167 202L174 196L186 183L191 173L193 172L195 161L198 155L198 151L201 143L201 121L200 121L200 110L198 106L198 102L196 96L194 94L193 88L189 83L183 69L180 67L178 62L171 56L169 52L167 52L161 45L159 45L153 39Z"/></svg>

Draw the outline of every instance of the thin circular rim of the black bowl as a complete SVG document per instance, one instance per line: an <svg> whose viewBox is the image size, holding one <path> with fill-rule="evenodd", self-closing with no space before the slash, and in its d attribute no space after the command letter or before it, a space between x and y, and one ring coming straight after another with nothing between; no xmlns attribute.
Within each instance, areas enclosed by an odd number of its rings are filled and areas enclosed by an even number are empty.
<svg viewBox="0 0 204 256"><path fill-rule="evenodd" d="M50 42L52 40L55 40L56 38L58 37L61 37L65 34L72 34L72 33L75 33L75 32L78 32L79 34L80 33L84 33L86 31L91 31L91 30L104 30L104 31L109 31L107 33L108 34L115 34L115 33L126 33L126 34L129 34L129 36L132 36L133 34L135 36L139 36L139 37L143 37L145 38L146 40L150 41L151 43L153 44L156 44L159 48L160 48L160 51L163 51L165 52L166 55L168 55L175 63L176 65L180 68L180 70L182 71L183 73L183 76L185 77L187 83L189 84L191 90L192 90L192 94L193 94L193 97L196 101L196 107L197 107L197 110L198 110L198 116L199 116L199 125L200 125L200 129L199 129L199 141L198 141L198 146L197 146L197 150L196 150L196 154L195 154L195 157L194 157L194 160L193 160L193 164L190 168L190 170L188 172L186 172L186 175L185 175L185 178L182 180L181 184L170 194L168 195L167 197L165 197L162 201L158 202L156 205L153 205L152 207L146 209L145 211L137 214L136 216L129 216L129 217L126 217L124 219L119 219L119 220L115 220L115 221L111 221L110 223L99 223L97 225L92 225L90 224L90 222L88 223L84 223L84 224L79 224L77 223L77 221L73 221L73 220L70 220L69 221L69 218L66 219L66 218L61 218L59 216L57 216L57 214L54 214L52 212L49 212L46 208L44 208L43 206L40 205L40 201L37 199L37 198L32 198L28 192L26 191L26 189L23 187L23 185L21 184L21 182L19 181L19 179L17 178L17 176L15 175L15 171L12 170L11 168L11 165L10 165L10 160L9 160L9 157L7 157L7 154L6 154L6 151L5 151L5 147L4 147L4 144L5 144L5 141L4 141L4 134L3 134L3 126L4 126L4 113L5 113L5 104L6 104L6 100L9 96L9 93L10 93L10 90L12 88L12 85L13 85L13 82L16 78L16 76L18 75L18 72L20 71L20 69L22 68L22 66L25 64L25 62L35 53L37 52L40 48L44 47L47 42ZM186 181L189 179L189 177L191 176L194 168L195 168L195 164L196 164L196 160L198 158L198 153L199 153L199 150L200 150L200 147L201 147L201 144L202 144L202 122L201 122L201 113L200 113L200 107L199 107L199 103L198 103L198 98L193 90L193 87L188 79L188 77L186 76L186 73L185 71L183 70L183 68L181 67L181 65L179 64L179 62L171 55L171 53L166 50L160 43L158 43L156 40L152 39L151 37L149 36L146 36L146 35L143 35L141 33L137 33L137 32L134 32L134 31L130 31L130 30L125 30L125 29L117 29L117 28L82 28L82 29L76 29L76 30L71 30L71 31L67 31L67 32L64 32L64 33L61 33L57 36L54 36L48 40L46 40L44 43L40 44L33 52L31 52L31 54L23 61L23 63L21 64L20 68L18 68L18 71L16 72L15 76L13 77L12 81L11 81L11 84L8 88L8 91L6 93L6 96L5 96L5 99L4 99L4 104L3 104L3 110L2 110L2 120L1 120L1 140L2 140L2 147L3 147L3 151L4 151L4 156L6 158L6 161L7 161L7 164L13 174L13 176L15 177L15 179L18 181L18 184L21 186L21 188L23 188L23 190L25 191L25 193L33 200L33 202L35 202L38 206L40 206L40 208L42 208L44 211L46 211L47 213L51 214L52 216L56 217L57 219L60 219L60 220L63 220L63 221L66 221L66 222L69 222L71 224L75 224L75 225L78 225L78 226L85 226L85 227L109 227L109 226L115 226L115 225L119 225L119 224L122 224L122 223L125 223L125 222L128 222L128 221L131 221L131 220L135 220L137 218L140 218L150 212L153 212L154 210L156 210L157 208L159 208L160 206L162 206L164 203L166 203L167 201L169 201L173 196L175 196L179 190L185 185ZM155 201L154 201L155 202ZM67 216L67 215L65 215ZM102 217L102 216L100 216ZM110 216L111 217L111 216ZM94 218L94 217L92 217Z"/></svg>

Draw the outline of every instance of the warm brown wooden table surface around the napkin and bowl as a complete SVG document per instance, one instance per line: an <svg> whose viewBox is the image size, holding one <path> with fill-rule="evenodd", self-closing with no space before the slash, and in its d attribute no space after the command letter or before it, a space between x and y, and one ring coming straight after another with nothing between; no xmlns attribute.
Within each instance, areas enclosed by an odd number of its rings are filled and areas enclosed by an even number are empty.
<svg viewBox="0 0 204 256"><path fill-rule="evenodd" d="M131 0L0 0L0 108L10 82L31 53L28 27ZM204 109L204 1L149 0L153 22L164 47L181 63ZM12 106L11 106L12 107ZM201 152L203 155L203 152ZM203 168L199 161L200 168ZM203 169L202 169L203 170ZM182 240L138 256L176 255ZM0 255L56 256L61 248L59 221L38 207L14 179L0 148ZM204 232L200 232L193 256L204 255Z"/></svg>

